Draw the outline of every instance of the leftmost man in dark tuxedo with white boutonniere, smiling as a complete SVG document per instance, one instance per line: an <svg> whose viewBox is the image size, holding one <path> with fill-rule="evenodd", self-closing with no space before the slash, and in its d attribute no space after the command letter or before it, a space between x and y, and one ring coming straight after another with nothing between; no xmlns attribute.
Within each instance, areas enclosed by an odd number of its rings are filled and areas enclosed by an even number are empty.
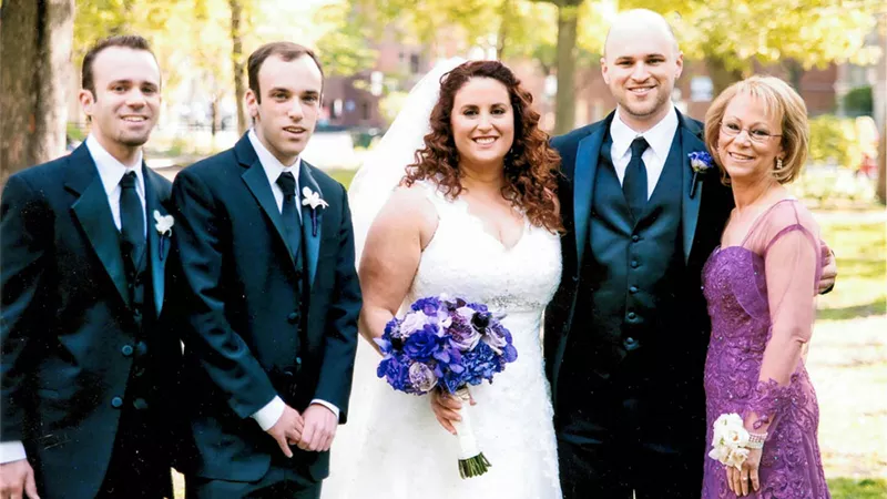
<svg viewBox="0 0 887 499"><path fill-rule="evenodd" d="M143 38L112 37L83 59L82 86L89 138L3 191L0 495L169 497L171 185L141 150L160 68Z"/></svg>

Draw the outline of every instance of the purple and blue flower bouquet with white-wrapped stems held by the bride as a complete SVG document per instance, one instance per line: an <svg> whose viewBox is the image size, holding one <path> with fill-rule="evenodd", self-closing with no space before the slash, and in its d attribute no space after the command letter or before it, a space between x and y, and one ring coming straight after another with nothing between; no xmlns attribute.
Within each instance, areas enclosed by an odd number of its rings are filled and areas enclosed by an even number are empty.
<svg viewBox="0 0 887 499"><path fill-rule="evenodd" d="M456 430L459 437L459 475L477 477L490 462L478 449L468 417L468 385L492 383L496 373L518 358L511 333L486 305L462 298L427 297L416 301L404 318L395 317L376 338L385 358L376 374L396 390L425 395L435 388L462 401Z"/></svg>

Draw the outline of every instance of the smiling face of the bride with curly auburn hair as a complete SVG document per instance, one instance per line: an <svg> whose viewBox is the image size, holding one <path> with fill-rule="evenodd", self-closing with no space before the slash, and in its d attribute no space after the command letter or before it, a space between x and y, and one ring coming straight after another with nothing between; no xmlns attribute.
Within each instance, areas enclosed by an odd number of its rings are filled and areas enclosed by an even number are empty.
<svg viewBox="0 0 887 499"><path fill-rule="evenodd" d="M514 110L508 88L492 78L472 78L456 92L450 113L459 162L502 167L514 142Z"/></svg>

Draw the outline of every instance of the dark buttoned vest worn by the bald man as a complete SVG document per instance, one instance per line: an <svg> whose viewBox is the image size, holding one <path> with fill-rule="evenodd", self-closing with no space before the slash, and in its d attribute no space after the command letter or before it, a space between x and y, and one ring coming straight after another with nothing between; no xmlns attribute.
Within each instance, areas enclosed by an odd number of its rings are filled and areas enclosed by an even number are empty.
<svg viewBox="0 0 887 499"><path fill-rule="evenodd" d="M589 241L580 276L575 338L585 364L608 377L629 356L655 349L677 317L683 159L679 128L662 175L634 220L610 159L609 133L594 177ZM581 312L580 312L581 310ZM574 364L574 363L571 363Z"/></svg>

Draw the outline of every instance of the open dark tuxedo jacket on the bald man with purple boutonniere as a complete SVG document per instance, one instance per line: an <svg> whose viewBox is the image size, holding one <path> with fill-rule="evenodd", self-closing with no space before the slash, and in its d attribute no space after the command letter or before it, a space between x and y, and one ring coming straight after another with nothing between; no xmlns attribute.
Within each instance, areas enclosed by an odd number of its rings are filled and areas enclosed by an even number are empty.
<svg viewBox="0 0 887 499"><path fill-rule="evenodd" d="M560 184L559 197L562 217L567 233L561 240L563 255L563 273L560 287L546 312L546 370L551 383L552 397L555 407L559 395L570 391L572 380L562 379L560 375L561 363L568 349L569 338L575 334L594 334L593 326L575 324L573 320L580 286L594 286L592 282L583 282L581 269L589 237L589 217L592 206L593 182L598 167L601 144L610 128L615 113L611 113L603 121L574 130L573 132L554 138L552 145L562 157L563 179ZM701 356L707 347L711 324L705 306L705 298L700 291L702 266L714 247L718 244L721 233L726 223L730 211L733 208L733 195L728 187L721 183L716 167L700 174L692 175L689 154L695 151L705 151L702 141L703 128L699 121L689 119L679 112L679 132L682 142L682 157L689 174L684 175L683 200L681 213L681 241L684 251L684 272L675 286L681 286L683 296L689 298L683 304L682 314L686 317L686 330L676 334L675 342L690 340L687 349L694 356ZM695 184L695 185L694 185ZM691 191L693 195L691 196ZM585 279L588 281L588 279ZM578 333L581 329L581 333ZM672 332L663 332L671 334ZM693 338L693 339L687 339ZM589 373L595 363L594 358L588 359ZM685 363L690 379L702 378L703 364L690 359ZM702 385L699 385L702 393ZM581 394L575 394L581 396Z"/></svg>

